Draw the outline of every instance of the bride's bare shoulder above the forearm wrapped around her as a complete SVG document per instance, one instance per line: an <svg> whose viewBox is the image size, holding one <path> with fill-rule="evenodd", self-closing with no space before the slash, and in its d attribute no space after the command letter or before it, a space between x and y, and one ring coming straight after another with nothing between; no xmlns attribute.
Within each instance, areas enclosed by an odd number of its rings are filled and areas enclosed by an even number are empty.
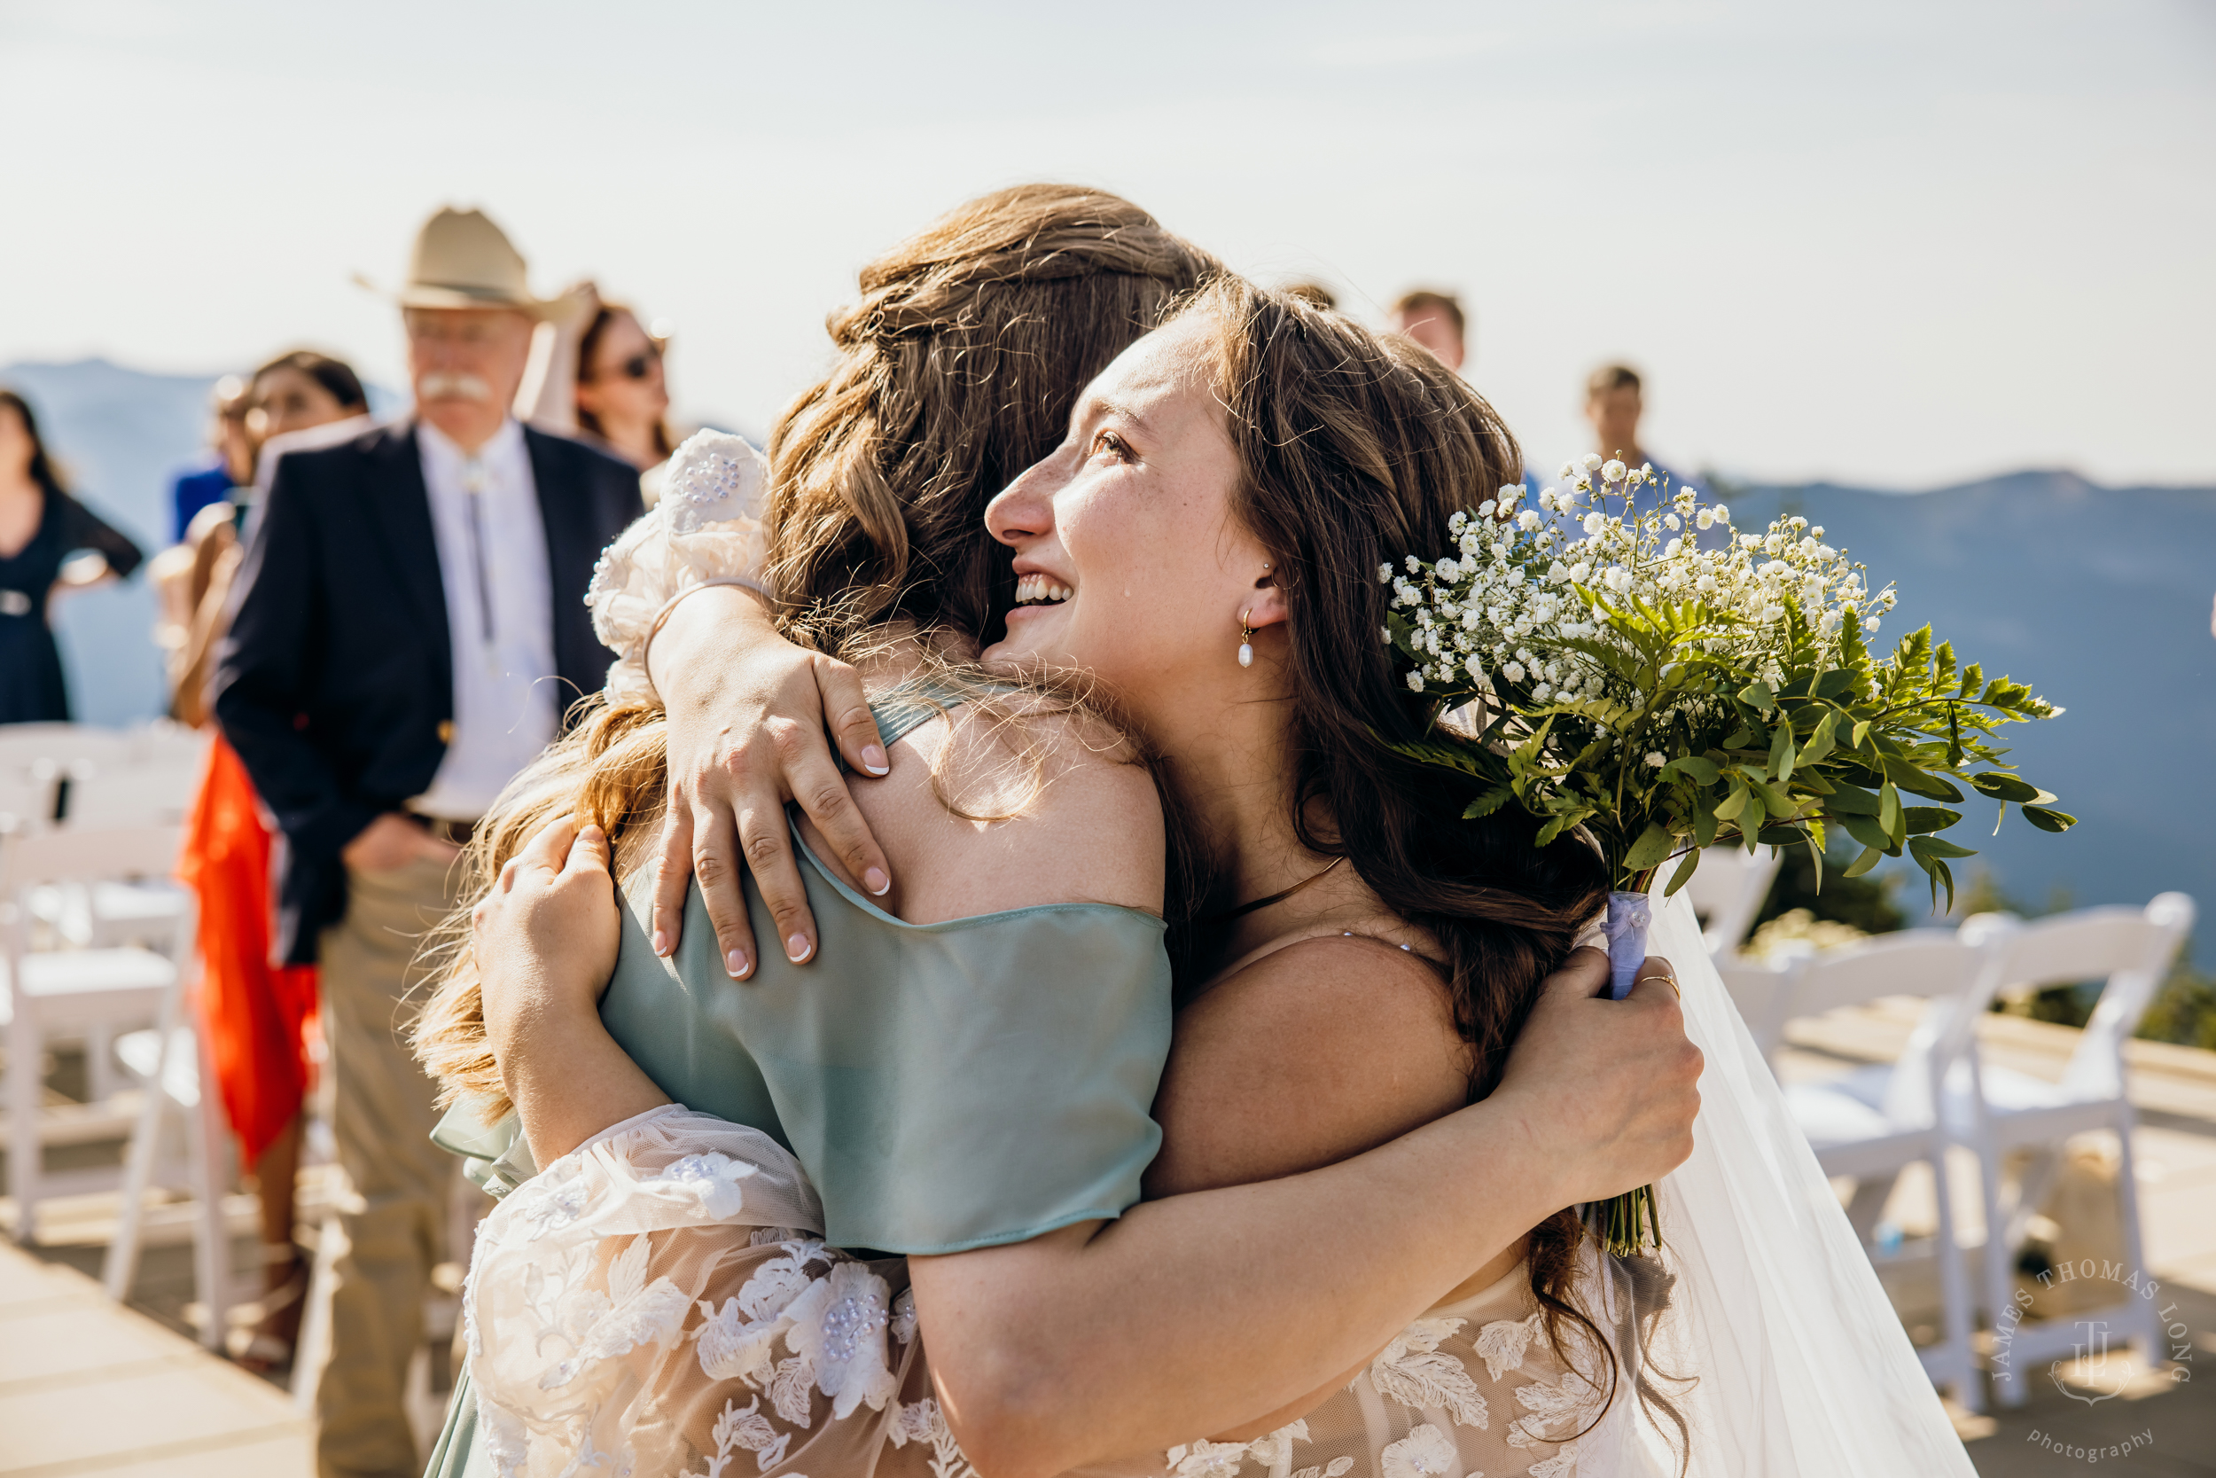
<svg viewBox="0 0 2216 1478"><path fill-rule="evenodd" d="M1177 1017L1150 1197L1299 1174L1454 1112L1469 1055L1445 982L1398 946L1301 940Z"/></svg>

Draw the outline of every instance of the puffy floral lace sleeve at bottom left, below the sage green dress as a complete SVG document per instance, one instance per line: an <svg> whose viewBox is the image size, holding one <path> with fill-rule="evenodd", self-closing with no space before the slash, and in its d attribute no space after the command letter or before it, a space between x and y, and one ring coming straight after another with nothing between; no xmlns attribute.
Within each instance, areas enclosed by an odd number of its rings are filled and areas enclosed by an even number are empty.
<svg viewBox="0 0 2216 1478"><path fill-rule="evenodd" d="M676 1104L485 1217L463 1334L470 1471L971 1474L931 1398L906 1263L827 1248L789 1152Z"/></svg>

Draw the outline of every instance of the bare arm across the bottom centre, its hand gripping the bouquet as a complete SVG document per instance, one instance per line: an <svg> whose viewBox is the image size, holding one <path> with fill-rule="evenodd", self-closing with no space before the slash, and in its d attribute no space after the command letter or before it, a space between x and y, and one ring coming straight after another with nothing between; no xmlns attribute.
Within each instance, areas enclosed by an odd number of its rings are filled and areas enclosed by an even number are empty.
<svg viewBox="0 0 2216 1478"><path fill-rule="evenodd" d="M1682 1163L1700 1050L1669 986L1593 999L1604 982L1598 953L1573 955L1491 1097L1367 1154L911 1259L962 1449L993 1478L1044 1478L1261 1425L1549 1214Z"/></svg>

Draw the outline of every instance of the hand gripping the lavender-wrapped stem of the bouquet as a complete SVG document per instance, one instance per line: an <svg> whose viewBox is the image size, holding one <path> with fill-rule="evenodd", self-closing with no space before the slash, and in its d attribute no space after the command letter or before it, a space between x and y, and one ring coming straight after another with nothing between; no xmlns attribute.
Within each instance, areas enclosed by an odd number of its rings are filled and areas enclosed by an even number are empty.
<svg viewBox="0 0 2216 1478"><path fill-rule="evenodd" d="M1649 955L1638 975L1631 995L1611 1002L1609 957L1571 951L1491 1097L1516 1110L1540 1163L1560 1168L1562 1205L1651 1186L1693 1152L1702 1055L1684 1035L1675 968Z"/></svg>

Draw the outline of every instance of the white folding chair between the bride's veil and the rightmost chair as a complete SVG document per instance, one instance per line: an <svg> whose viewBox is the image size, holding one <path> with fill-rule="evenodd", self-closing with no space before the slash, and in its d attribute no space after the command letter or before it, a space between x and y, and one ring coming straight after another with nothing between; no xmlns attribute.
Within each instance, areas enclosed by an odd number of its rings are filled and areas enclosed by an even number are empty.
<svg viewBox="0 0 2216 1478"><path fill-rule="evenodd" d="M1861 1006L1886 995L1917 995L1930 1004L1899 1061L1857 1068L1822 1084L1791 1084L1786 1108L1808 1135L1824 1174L1853 1177L1848 1221L1870 1248L1877 1219L1901 1170L1926 1163L1939 1201L1939 1232L1930 1254L1939 1270L1941 1336L1919 1349L1935 1385L1952 1387L1972 1412L1983 1409L1970 1276L1948 1188L1948 1132L1937 1104L1941 1079L1974 1037L1990 948L1966 944L1952 928L1917 928L1879 935L1828 955L1802 955L1784 971L1786 1006L1779 1024ZM1977 1004L1972 1004L1977 1002ZM1901 1261L1873 1252L1873 1261Z"/></svg>

